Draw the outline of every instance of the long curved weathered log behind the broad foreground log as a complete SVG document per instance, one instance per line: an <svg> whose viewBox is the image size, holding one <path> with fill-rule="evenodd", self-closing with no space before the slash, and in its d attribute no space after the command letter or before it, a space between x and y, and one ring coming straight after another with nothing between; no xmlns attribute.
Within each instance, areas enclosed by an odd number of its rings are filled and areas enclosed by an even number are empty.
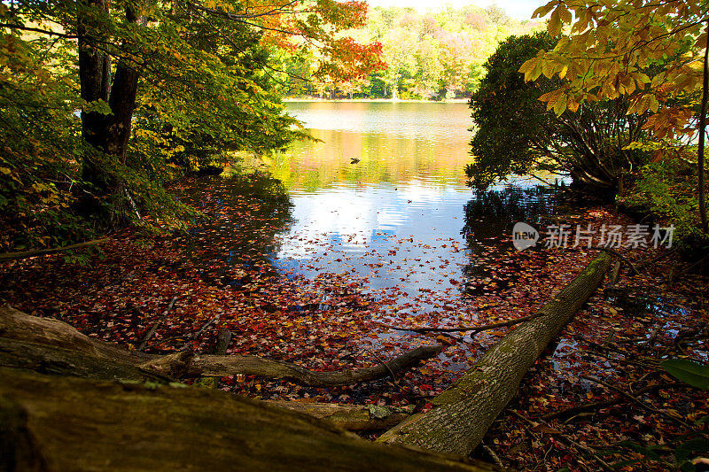
<svg viewBox="0 0 709 472"><path fill-rule="evenodd" d="M69 324L38 318L11 306L0 307L0 366L51 371L90 378L155 378L226 375L258 375L286 379L311 387L330 387L368 382L396 375L437 355L442 346L422 346L383 364L339 372L315 372L288 362L250 355L195 355L177 352L165 356L128 352L113 344L91 339ZM19 352L22 352L20 355ZM72 373L74 372L74 373ZM108 375L108 376L106 376Z"/></svg>

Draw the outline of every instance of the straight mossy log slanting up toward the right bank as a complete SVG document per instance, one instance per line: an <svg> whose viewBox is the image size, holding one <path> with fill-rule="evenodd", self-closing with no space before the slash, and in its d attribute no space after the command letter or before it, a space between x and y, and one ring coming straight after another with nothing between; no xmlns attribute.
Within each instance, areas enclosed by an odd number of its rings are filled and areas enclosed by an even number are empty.
<svg viewBox="0 0 709 472"><path fill-rule="evenodd" d="M539 310L493 344L456 383L432 400L433 408L414 414L378 441L430 451L469 454L495 417L517 394L519 383L549 342L596 290L611 264L602 253Z"/></svg>

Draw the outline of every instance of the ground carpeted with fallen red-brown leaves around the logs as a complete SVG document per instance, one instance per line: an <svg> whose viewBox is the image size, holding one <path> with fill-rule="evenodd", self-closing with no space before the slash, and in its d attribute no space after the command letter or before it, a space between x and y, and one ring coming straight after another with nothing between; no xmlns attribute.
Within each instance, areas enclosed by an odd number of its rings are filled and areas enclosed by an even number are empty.
<svg viewBox="0 0 709 472"><path fill-rule="evenodd" d="M258 205L259 200L244 197L231 211L222 208L210 216L253 219L250 212ZM210 214L208 207L202 210ZM569 224L596 227L632 223L612 206L580 208L564 218ZM261 213L258 219L269 230L278 225ZM510 236L484 241L483 251L471 257L487 267L488 275L461 280L459 290L450 294L464 299L470 308L466 313L397 320L395 291L370 290L364 281L346 275L284 277L261 258L239 267L225 259L198 263L194 240L199 237L124 230L111 235L85 265L66 262L63 255L4 263L0 303L69 322L91 337L129 349L136 349L158 323L144 348L154 353L188 344L197 352L211 352L218 329L226 327L233 333L229 353L258 354L323 371L367 367L417 345L443 343L446 348L438 358L397 379L307 388L235 375L223 377L218 386L255 398L389 405L413 412L429 408L430 398L514 326L471 338L464 333L421 335L386 325L474 326L534 313L597 253L518 252ZM230 242L223 244L228 248ZM505 467L597 470L616 464L621 470L670 469L673 453L682 455L677 445L705 437L704 424L695 422L709 414L706 392L678 383L659 368L658 360L707 360L709 281L684 273L688 264L676 253L653 261L666 249L621 252L638 274L624 263L615 284L604 282L489 429L485 445ZM440 305L445 313L446 301Z"/></svg>

